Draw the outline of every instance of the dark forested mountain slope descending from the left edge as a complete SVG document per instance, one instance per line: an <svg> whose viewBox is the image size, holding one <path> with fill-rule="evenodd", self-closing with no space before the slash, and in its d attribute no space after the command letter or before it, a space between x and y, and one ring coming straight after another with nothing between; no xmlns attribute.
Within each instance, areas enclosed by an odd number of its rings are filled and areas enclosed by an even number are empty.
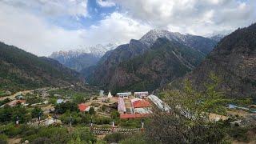
<svg viewBox="0 0 256 144"><path fill-rule="evenodd" d="M83 83L81 74L58 61L37 57L0 42L0 90L30 90L42 86Z"/></svg>

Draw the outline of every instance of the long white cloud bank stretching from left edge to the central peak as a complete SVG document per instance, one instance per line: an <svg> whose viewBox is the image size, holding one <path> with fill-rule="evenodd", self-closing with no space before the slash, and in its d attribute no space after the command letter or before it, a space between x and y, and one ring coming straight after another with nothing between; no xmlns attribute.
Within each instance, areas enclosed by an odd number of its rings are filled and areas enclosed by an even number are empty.
<svg viewBox="0 0 256 144"><path fill-rule="evenodd" d="M48 56L57 50L107 42L129 42L140 38L151 27L125 14L113 13L88 29L65 30L45 18L0 2L0 41L33 54Z"/></svg>

